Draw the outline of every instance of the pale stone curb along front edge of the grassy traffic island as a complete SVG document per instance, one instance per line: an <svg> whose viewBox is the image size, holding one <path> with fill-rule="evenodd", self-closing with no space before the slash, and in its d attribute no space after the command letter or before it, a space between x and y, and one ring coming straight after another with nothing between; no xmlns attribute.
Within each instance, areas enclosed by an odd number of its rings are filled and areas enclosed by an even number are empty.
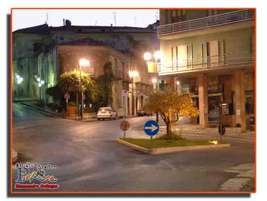
<svg viewBox="0 0 267 201"><path fill-rule="evenodd" d="M154 149L147 149L143 147L139 147L132 143L126 142L117 138L116 140L118 143L124 144L128 147L132 147L135 150L143 151L145 153L149 153L150 155L157 155L163 153L173 153L179 151L192 151L192 150L200 150L200 149L212 149L212 148L229 148L231 144L219 144L219 145L197 145L197 146L186 146L186 147L167 147L167 148L154 148Z"/></svg>

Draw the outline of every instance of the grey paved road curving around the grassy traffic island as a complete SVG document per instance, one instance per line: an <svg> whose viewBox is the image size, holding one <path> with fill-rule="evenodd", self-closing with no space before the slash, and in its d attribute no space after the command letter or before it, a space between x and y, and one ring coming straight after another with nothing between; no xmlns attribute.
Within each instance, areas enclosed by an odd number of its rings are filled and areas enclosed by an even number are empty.
<svg viewBox="0 0 267 201"><path fill-rule="evenodd" d="M249 142L151 156L115 141L123 136L121 119L79 122L14 108L20 110L14 129L19 162L57 165L47 173L58 178L59 191L217 191L236 175L225 168L254 162ZM127 136L145 136L140 128L151 118L128 118L132 128Z"/></svg>

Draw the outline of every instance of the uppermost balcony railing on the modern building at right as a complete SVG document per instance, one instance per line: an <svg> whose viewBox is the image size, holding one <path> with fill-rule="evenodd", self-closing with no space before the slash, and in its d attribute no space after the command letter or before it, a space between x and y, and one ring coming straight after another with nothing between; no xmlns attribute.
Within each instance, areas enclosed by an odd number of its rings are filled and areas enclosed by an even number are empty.
<svg viewBox="0 0 267 201"><path fill-rule="evenodd" d="M218 26L234 23L237 21L249 20L254 18L254 10L241 10L231 13L220 14L210 17L187 20L183 22L162 25L157 28L158 35L180 33L206 27Z"/></svg>

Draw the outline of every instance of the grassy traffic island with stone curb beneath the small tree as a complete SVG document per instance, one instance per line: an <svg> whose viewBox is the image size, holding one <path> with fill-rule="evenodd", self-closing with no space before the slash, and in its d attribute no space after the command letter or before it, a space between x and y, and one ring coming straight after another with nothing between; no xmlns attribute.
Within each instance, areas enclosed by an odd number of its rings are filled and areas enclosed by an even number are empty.
<svg viewBox="0 0 267 201"><path fill-rule="evenodd" d="M179 151L231 147L231 144L219 144L217 141L187 140L184 138L178 140L153 139L152 143L150 139L117 138L117 142L151 155Z"/></svg>

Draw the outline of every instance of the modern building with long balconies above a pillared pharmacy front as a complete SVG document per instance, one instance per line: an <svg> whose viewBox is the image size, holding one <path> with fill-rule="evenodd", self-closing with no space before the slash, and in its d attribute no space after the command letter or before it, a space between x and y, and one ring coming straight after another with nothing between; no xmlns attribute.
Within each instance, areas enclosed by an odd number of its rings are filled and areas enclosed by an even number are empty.
<svg viewBox="0 0 267 201"><path fill-rule="evenodd" d="M160 10L159 75L194 94L200 109L195 123L213 126L221 120L246 130L254 115L254 15L254 10Z"/></svg>

